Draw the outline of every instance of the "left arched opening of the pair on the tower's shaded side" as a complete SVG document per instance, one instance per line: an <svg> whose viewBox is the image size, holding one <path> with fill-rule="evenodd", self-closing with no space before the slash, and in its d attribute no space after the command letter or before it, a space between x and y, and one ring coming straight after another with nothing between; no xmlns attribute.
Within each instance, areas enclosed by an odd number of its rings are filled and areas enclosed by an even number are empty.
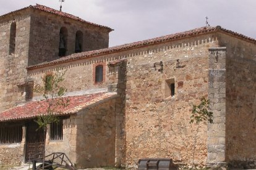
<svg viewBox="0 0 256 170"><path fill-rule="evenodd" d="M59 31L59 57L66 55L67 51L67 28L62 27Z"/></svg>

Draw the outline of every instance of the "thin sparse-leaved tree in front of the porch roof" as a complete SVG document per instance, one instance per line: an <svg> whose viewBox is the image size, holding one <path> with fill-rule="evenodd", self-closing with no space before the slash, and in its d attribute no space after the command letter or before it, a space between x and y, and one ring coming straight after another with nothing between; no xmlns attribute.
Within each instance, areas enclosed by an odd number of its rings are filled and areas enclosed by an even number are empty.
<svg viewBox="0 0 256 170"><path fill-rule="evenodd" d="M43 86L36 86L35 92L40 93L43 97L41 102L46 105L46 110L39 113L35 120L38 128L42 128L44 132L44 140L46 140L46 126L51 123L58 123L59 118L56 115L62 115L63 108L69 105L69 99L62 98L67 91L66 87L60 83L64 81L64 73L48 73L43 80ZM43 169L45 163L45 145L43 149Z"/></svg>

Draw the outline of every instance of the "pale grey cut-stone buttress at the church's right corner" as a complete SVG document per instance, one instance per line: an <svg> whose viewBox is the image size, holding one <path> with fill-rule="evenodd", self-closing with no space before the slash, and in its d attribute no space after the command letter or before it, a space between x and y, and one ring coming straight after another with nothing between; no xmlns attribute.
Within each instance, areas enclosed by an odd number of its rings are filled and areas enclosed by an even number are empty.
<svg viewBox="0 0 256 170"><path fill-rule="evenodd" d="M226 166L226 47L209 49L209 89L213 123L208 124L207 164Z"/></svg>

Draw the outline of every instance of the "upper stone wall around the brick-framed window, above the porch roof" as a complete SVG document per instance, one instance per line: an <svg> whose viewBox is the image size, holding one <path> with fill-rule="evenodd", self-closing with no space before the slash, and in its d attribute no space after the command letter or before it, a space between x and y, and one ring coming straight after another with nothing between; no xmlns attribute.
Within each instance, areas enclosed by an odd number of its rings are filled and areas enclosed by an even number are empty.
<svg viewBox="0 0 256 170"><path fill-rule="evenodd" d="M122 53L121 53L122 54ZM67 92L74 91L93 91L94 89L106 88L111 84L109 80L108 73L109 68L108 63L119 59L119 54L113 55L103 55L100 57L94 57L89 59L77 60L69 63L61 63L58 65L36 68L34 70L28 70L28 79L33 79L34 86L38 84L43 84L41 77L45 76L46 73L64 73L63 84L67 88ZM95 65L102 63L105 65L105 73L103 73L103 82L95 83ZM33 94L34 97L40 94Z"/></svg>

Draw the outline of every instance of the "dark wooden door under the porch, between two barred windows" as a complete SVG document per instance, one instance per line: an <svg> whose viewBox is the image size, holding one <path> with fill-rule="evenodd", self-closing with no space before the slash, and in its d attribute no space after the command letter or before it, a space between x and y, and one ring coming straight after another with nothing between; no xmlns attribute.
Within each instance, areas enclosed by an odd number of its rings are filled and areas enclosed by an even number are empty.
<svg viewBox="0 0 256 170"><path fill-rule="evenodd" d="M27 123L25 161L42 157L44 145L43 129L38 129L38 124L34 121Z"/></svg>

